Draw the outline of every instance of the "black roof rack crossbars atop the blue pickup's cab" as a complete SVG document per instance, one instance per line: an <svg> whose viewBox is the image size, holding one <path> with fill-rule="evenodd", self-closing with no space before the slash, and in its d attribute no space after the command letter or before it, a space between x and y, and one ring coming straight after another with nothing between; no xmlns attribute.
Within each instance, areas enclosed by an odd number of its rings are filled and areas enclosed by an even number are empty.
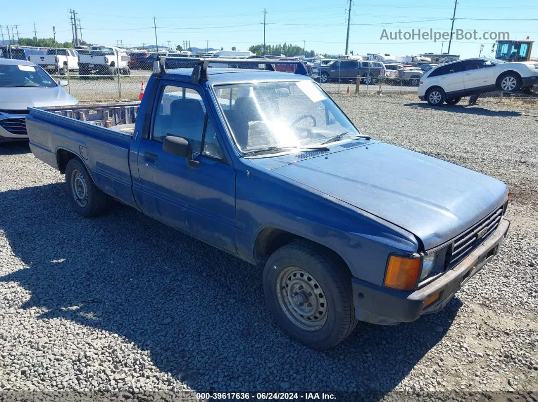
<svg viewBox="0 0 538 402"><path fill-rule="evenodd" d="M194 64L193 74L191 76L195 84L200 81L208 81L207 69L209 63L228 63L228 64L265 64L265 70L275 71L274 64L295 64L295 74L308 75L305 64L299 60L260 60L260 59L226 59L225 57L210 57L209 59L203 59L201 57L161 57L158 56L157 60L153 63L153 74L161 76L166 74L165 64L167 60L185 61ZM189 66L190 67L190 66Z"/></svg>

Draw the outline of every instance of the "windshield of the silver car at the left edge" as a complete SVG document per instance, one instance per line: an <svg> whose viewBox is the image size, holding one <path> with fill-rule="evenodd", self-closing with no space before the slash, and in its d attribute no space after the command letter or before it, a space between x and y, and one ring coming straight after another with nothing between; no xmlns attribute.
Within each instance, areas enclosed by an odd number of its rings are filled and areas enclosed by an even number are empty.
<svg viewBox="0 0 538 402"><path fill-rule="evenodd" d="M54 80L36 65L0 64L0 87L47 87L56 86Z"/></svg>

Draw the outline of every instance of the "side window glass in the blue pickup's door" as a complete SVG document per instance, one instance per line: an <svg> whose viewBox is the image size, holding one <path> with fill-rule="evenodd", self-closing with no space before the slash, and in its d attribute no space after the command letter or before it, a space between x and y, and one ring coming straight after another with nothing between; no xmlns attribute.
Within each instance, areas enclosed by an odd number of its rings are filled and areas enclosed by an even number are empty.
<svg viewBox="0 0 538 402"><path fill-rule="evenodd" d="M205 142L202 147L206 120ZM185 138L195 154L218 159L224 157L202 97L194 89L166 85L162 91L151 138L162 142L167 135Z"/></svg>

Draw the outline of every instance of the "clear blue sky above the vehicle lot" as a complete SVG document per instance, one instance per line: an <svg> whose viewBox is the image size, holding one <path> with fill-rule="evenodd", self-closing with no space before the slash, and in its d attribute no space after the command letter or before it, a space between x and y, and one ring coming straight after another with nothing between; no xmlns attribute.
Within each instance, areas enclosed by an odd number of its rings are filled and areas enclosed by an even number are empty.
<svg viewBox="0 0 538 402"><path fill-rule="evenodd" d="M0 25L7 39L6 25L18 25L19 35L33 36L36 23L38 37L51 37L56 26L56 40L71 40L69 3L26 0L24 12L17 2L4 3ZM263 9L267 10L266 43L293 43L314 49L318 53L339 54L345 50L345 0L285 0L231 2L167 1L110 2L94 0L74 2L81 19L82 38L91 43L115 45L154 44L153 15L157 21L159 45L182 45L190 40L192 46L246 49L263 42ZM123 5L122 5L123 4ZM125 6L126 5L126 6ZM453 0L353 0L351 5L350 50L355 54L390 53L410 55L447 51L448 42L424 40L380 40L387 31L418 30L450 31ZM505 18L506 17L506 18ZM518 18L520 20L518 20ZM538 57L538 2L536 0L459 0L455 29L503 31L511 39L536 40L533 55ZM453 40L451 52L462 57L477 56L480 44L483 55L490 56L493 40Z"/></svg>

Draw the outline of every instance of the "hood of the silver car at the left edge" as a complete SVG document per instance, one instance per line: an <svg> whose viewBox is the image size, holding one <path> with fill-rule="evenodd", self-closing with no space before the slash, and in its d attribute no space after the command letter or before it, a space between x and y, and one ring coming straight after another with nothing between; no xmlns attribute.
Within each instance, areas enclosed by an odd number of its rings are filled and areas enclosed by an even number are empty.
<svg viewBox="0 0 538 402"><path fill-rule="evenodd" d="M68 106L78 103L61 86L53 88L0 87L0 109L26 110L27 107Z"/></svg>

